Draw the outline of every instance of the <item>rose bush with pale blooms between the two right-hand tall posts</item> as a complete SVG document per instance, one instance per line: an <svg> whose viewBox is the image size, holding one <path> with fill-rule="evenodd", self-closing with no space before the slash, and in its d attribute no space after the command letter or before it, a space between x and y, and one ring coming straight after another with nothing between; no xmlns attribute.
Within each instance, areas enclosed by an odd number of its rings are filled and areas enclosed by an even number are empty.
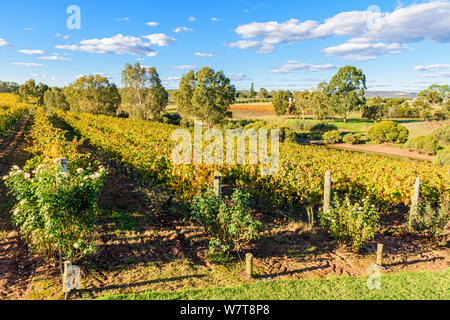
<svg viewBox="0 0 450 320"><path fill-rule="evenodd" d="M374 237L379 216L368 198L352 204L347 198L343 203L335 198L328 212L319 212L322 228L340 244L359 249Z"/></svg>

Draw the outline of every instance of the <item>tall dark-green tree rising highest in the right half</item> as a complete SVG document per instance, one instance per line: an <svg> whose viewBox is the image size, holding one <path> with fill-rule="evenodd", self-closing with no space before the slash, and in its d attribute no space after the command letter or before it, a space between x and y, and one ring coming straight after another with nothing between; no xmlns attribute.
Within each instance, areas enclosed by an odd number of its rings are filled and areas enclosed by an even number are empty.
<svg viewBox="0 0 450 320"><path fill-rule="evenodd" d="M366 76L354 66L341 67L327 86L327 93L347 122L348 113L365 103Z"/></svg>

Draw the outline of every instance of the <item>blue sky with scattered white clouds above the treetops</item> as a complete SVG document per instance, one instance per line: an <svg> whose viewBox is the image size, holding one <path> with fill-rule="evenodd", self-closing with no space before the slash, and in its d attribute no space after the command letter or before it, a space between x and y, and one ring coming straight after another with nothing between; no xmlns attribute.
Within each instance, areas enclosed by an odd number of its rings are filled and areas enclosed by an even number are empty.
<svg viewBox="0 0 450 320"><path fill-rule="evenodd" d="M189 68L223 70L238 89L309 89L340 66L369 90L450 81L449 1L4 1L0 80L63 86L125 63L155 66L168 88ZM66 12L80 8L80 29Z"/></svg>

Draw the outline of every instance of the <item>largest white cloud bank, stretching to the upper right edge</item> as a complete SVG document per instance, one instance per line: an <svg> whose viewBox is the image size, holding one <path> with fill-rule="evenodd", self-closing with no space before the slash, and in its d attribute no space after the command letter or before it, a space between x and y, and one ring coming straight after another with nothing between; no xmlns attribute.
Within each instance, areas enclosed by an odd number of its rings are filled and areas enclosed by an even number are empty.
<svg viewBox="0 0 450 320"><path fill-rule="evenodd" d="M346 11L326 19L323 23L314 20L300 21L290 19L285 22L251 22L235 29L243 41L233 46L241 49L254 49L260 53L264 45L293 43L331 36L354 38L348 43L365 43L379 46L378 42L389 44L406 44L427 40L431 42L450 42L450 2L430 1L416 3L393 12L377 13L373 11ZM258 41L258 43L256 42ZM345 46L350 46L348 43ZM339 47L339 46L337 46ZM374 50L372 50L374 52ZM378 50L378 54L384 54ZM387 53L391 50L387 48ZM373 58L373 55L366 55ZM347 58L351 55L346 55ZM355 55L364 58L364 55ZM366 59L367 60L367 59Z"/></svg>

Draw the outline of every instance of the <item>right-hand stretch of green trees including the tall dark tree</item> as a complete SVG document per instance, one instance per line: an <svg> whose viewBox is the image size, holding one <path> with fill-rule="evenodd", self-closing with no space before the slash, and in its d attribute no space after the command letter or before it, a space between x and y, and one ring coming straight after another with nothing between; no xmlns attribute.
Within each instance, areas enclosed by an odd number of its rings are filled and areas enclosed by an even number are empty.
<svg viewBox="0 0 450 320"><path fill-rule="evenodd" d="M322 82L316 90L276 92L272 98L277 115L293 114L305 119L307 114L319 120L342 116L344 122L350 112L361 111L362 117L375 122L383 118L447 119L450 110L448 85L431 85L419 93L411 103L406 99L365 98L366 76L361 69L345 66L330 82Z"/></svg>

